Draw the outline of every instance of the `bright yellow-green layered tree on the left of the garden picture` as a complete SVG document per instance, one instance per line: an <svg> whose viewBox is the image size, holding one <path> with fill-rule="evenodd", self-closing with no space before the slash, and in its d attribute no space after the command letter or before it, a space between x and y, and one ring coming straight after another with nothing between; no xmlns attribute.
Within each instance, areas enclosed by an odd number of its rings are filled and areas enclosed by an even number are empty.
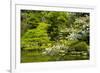
<svg viewBox="0 0 100 73"><path fill-rule="evenodd" d="M47 34L48 24L39 23L35 29L28 30L22 37L22 49L42 49L47 47L49 37Z"/></svg>

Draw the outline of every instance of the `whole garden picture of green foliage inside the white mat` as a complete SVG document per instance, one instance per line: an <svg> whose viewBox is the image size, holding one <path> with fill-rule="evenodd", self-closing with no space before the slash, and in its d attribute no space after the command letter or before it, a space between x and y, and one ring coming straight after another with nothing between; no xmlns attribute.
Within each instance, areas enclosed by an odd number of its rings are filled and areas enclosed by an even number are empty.
<svg viewBox="0 0 100 73"><path fill-rule="evenodd" d="M21 10L21 62L89 59L89 13Z"/></svg>

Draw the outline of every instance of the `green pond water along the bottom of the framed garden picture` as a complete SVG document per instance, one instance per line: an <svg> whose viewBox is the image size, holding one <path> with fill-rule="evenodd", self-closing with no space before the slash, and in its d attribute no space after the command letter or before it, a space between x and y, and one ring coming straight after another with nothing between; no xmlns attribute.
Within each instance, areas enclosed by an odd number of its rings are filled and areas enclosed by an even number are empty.
<svg viewBox="0 0 100 73"><path fill-rule="evenodd" d="M89 60L88 55L43 55L39 51L21 51L21 63L29 62L50 62L50 61L73 61L73 60Z"/></svg>

